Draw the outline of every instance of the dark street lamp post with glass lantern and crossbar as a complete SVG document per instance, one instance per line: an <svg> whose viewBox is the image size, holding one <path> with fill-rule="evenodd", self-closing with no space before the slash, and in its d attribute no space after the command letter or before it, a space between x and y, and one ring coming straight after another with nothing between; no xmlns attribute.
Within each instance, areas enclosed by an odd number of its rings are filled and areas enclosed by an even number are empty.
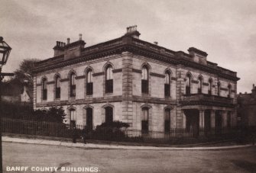
<svg viewBox="0 0 256 173"><path fill-rule="evenodd" d="M13 76L13 73L5 73L2 72L2 66L4 66L8 60L8 57L11 53L11 47L5 43L4 38L0 37L0 135L1 135L1 141L0 141L0 155L1 155L1 164L0 164L0 172L2 171L2 79L5 76Z"/></svg>

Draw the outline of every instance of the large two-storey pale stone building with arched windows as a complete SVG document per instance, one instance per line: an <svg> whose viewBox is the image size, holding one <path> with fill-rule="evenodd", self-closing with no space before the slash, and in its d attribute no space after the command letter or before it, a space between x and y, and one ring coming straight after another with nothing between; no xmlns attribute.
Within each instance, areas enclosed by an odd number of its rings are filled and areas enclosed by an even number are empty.
<svg viewBox="0 0 256 173"><path fill-rule="evenodd" d="M132 129L222 128L236 123L236 72L207 53L168 50L139 39L136 26L85 46L58 42L34 69L34 109L63 106L66 122L96 127L120 120Z"/></svg>

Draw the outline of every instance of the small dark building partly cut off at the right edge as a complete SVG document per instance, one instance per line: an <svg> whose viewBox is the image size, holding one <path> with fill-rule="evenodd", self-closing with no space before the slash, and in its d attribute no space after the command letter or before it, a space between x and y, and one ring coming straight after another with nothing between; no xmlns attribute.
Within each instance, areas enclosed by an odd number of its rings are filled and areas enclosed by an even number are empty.
<svg viewBox="0 0 256 173"><path fill-rule="evenodd" d="M239 93L237 101L238 125L256 127L256 87L252 85L251 93Z"/></svg>

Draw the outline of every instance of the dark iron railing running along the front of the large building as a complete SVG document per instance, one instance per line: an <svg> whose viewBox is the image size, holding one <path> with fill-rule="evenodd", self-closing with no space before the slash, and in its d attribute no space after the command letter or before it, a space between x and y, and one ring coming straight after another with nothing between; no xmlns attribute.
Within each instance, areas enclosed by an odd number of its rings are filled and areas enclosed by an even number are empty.
<svg viewBox="0 0 256 173"><path fill-rule="evenodd" d="M148 130L147 133L130 128L93 127L83 129L82 125L76 125L77 137L85 136L86 139L145 143L169 143L196 139L235 139L241 134L241 130L237 127L219 129L170 128L168 132ZM72 138L74 135L74 129L70 127L70 124L8 118L2 118L2 132L64 138Z"/></svg>

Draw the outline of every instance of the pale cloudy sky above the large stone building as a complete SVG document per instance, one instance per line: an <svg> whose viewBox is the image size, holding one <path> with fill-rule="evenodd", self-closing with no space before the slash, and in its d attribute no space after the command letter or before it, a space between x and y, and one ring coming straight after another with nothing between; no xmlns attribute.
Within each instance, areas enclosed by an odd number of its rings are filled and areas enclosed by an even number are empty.
<svg viewBox="0 0 256 173"><path fill-rule="evenodd" d="M86 46L121 37L138 25L140 39L187 52L238 72L238 93L256 85L254 0L0 0L0 36L11 46L3 72L23 59L53 57L56 41L83 34Z"/></svg>

